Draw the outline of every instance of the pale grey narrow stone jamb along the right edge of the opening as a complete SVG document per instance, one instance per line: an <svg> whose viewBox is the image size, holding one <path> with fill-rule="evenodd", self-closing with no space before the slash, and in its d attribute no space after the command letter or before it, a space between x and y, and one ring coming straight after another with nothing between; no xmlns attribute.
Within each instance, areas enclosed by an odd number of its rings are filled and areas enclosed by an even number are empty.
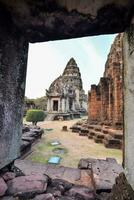
<svg viewBox="0 0 134 200"><path fill-rule="evenodd" d="M134 189L134 24L124 36L125 172Z"/></svg>

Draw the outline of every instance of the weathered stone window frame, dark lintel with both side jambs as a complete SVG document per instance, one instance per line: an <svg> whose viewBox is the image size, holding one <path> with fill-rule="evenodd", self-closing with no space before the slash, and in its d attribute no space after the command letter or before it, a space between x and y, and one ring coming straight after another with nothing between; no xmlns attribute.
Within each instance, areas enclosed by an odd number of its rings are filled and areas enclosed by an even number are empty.
<svg viewBox="0 0 134 200"><path fill-rule="evenodd" d="M0 169L20 156L28 43L125 31L123 149L127 179L119 176L111 199L133 199L133 10L130 0L0 0ZM80 199L78 192L77 197Z"/></svg>

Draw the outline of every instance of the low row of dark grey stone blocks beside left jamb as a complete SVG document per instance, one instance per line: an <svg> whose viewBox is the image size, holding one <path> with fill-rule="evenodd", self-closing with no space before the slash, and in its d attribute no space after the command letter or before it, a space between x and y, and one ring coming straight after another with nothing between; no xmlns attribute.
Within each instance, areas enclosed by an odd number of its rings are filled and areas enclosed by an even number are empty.
<svg viewBox="0 0 134 200"><path fill-rule="evenodd" d="M32 144L42 137L44 130L38 126L23 125L22 140L20 147L21 156L27 154L32 147Z"/></svg>

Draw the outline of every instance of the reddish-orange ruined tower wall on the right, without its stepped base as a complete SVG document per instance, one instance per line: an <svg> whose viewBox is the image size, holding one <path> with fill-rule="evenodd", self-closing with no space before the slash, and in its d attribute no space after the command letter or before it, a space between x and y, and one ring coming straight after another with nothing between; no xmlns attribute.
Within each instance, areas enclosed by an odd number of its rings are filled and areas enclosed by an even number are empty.
<svg viewBox="0 0 134 200"><path fill-rule="evenodd" d="M122 68L123 34L119 34L111 46L105 71L98 85L91 85L88 95L89 121L109 125L122 125Z"/></svg>

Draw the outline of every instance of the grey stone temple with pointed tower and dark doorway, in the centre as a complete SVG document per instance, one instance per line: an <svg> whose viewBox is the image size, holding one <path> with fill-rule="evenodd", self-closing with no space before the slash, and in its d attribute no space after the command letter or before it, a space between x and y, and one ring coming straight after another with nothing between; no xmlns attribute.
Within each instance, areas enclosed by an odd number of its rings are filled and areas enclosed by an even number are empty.
<svg viewBox="0 0 134 200"><path fill-rule="evenodd" d="M74 58L71 58L61 76L46 90L47 112L51 119L80 117L87 111L87 96L83 90L81 73Z"/></svg>

